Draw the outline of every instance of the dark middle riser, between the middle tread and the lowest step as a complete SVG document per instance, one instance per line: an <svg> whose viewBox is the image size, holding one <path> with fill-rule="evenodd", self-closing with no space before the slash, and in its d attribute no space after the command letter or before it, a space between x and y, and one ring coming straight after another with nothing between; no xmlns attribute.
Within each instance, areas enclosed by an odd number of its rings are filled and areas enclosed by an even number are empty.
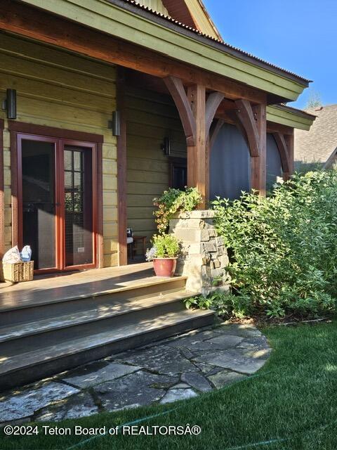
<svg viewBox="0 0 337 450"><path fill-rule="evenodd" d="M138 309L136 311L129 311L126 314L120 316L112 316L109 319L101 319L98 321L91 321L88 323L82 323L75 326L70 326L66 328L59 328L52 331L46 331L44 333L25 335L22 338L16 338L7 340L0 343L0 354L1 356L11 356L13 354L18 354L25 352L27 348L41 348L42 345L50 346L57 345L60 342L69 341L72 339L86 336L95 335L98 330L113 330L119 326L126 326L134 323L135 328L137 323L147 319L155 319L157 316L163 314L175 313L178 311L184 311L185 306L181 300L176 300L174 302L157 304L156 306L150 308Z"/></svg>

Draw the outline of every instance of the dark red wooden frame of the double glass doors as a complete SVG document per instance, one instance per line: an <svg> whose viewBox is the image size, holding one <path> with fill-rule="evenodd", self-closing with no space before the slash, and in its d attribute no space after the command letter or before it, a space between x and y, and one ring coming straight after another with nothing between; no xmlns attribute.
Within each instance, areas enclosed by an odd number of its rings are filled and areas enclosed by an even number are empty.
<svg viewBox="0 0 337 450"><path fill-rule="evenodd" d="M102 144L103 136L100 134L91 134L82 131L73 131L67 129L58 129L54 127L44 127L41 125L27 124L25 122L8 122L8 129L11 135L11 195L12 195L12 245L20 245L22 241L22 192L20 192L20 186L22 186L22 179L20 179L22 172L20 170L21 158L18 158L18 136L25 135L37 140L51 139L56 142L56 146L60 148L65 142L76 145L80 143L81 146L91 147L93 149L93 264L86 264L84 266L70 266L63 270L70 271L76 269L88 269L103 266L103 171L102 171ZM40 139L39 139L40 138ZM55 152L56 155L61 155L60 151ZM56 157L57 158L57 157ZM64 183L60 185L62 173L60 157L56 160L56 173L58 179L55 181L58 186L64 186ZM20 161L20 162L19 162ZM56 189L56 193L60 189ZM60 200L60 201L58 201ZM55 198L56 203L60 203L62 207L62 198ZM63 206L64 208L64 206ZM21 219L20 219L21 216ZM59 218L56 222L58 225L58 236L64 242L63 229L64 223L62 222L62 214L56 213ZM57 246L60 249L60 245ZM56 264L58 268L65 267L65 262L62 261L62 254L64 250L58 251L56 255ZM60 269L41 269L40 273L48 273L51 271Z"/></svg>

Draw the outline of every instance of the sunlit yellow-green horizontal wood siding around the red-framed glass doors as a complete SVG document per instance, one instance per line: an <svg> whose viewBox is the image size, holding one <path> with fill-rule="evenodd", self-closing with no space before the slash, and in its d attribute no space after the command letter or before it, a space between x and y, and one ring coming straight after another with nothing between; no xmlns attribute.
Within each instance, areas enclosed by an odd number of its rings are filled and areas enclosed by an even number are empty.
<svg viewBox="0 0 337 450"><path fill-rule="evenodd" d="M18 94L18 121L104 136L104 265L117 265L116 139L107 128L116 108L114 66L0 34L0 94ZM5 118L4 112L0 117ZM5 244L11 246L11 153L4 130Z"/></svg>

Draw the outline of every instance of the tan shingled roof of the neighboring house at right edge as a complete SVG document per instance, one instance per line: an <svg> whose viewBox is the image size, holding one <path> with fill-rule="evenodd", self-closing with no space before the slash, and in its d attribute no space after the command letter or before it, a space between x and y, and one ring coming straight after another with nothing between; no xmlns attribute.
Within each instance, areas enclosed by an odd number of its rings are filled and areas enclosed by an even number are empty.
<svg viewBox="0 0 337 450"><path fill-rule="evenodd" d="M295 161L324 164L337 148L337 105L310 108L306 112L317 119L310 131L295 130Z"/></svg>

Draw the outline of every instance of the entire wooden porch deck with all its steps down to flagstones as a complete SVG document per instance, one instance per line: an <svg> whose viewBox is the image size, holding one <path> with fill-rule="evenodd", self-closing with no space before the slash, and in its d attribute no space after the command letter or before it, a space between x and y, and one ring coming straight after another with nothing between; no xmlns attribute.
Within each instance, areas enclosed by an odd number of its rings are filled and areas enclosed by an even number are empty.
<svg viewBox="0 0 337 450"><path fill-rule="evenodd" d="M0 390L213 323L151 263L0 283Z"/></svg>

